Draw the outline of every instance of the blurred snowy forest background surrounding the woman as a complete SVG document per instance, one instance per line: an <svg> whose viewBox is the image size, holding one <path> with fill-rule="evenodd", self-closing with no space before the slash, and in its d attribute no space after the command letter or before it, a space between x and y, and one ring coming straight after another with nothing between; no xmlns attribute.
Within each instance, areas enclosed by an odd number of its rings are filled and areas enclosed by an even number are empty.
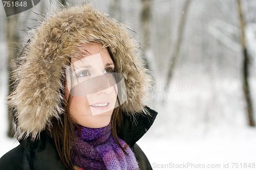
<svg viewBox="0 0 256 170"><path fill-rule="evenodd" d="M81 1L44 0L8 17L0 5L0 156L18 145L6 104L12 90L8 72L15 69L27 30L67 3ZM195 165L187 169L198 169L199 164L210 166L201 169L255 169L256 1L90 3L129 28L154 78L147 105L158 116L138 142L153 169L183 163Z"/></svg>

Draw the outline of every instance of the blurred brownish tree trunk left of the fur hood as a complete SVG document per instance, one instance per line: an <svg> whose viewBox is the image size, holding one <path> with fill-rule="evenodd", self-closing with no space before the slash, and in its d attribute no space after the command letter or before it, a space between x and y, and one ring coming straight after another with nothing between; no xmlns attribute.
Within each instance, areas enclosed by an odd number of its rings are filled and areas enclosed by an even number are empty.
<svg viewBox="0 0 256 170"><path fill-rule="evenodd" d="M18 40L18 35L17 35L17 15L9 16L7 17L7 46L8 46L8 72L13 71L15 66L14 66L14 59L16 58L16 55L18 53L18 46L17 46L17 40ZM13 90L11 84L13 81L11 80L10 75L8 74L8 83L9 83L9 92L10 94ZM8 107L8 136L13 137L14 136L14 124L13 124L13 116L12 116L12 110L13 108Z"/></svg>

